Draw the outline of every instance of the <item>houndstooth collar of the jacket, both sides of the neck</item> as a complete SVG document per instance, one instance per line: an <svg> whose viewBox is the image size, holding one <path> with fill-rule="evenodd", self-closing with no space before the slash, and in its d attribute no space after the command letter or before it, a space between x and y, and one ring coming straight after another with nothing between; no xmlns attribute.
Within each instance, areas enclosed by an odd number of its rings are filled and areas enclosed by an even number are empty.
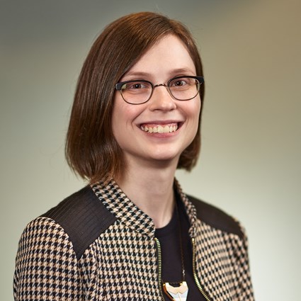
<svg viewBox="0 0 301 301"><path fill-rule="evenodd" d="M103 205L105 205L116 218L127 225L127 227L149 237L154 237L155 227L152 218L132 203L113 179L106 184L103 182L93 184L91 188ZM174 189L183 202L186 214L192 225L189 229L189 234L191 237L194 237L196 221L195 207L183 193L176 179L174 180Z"/></svg>

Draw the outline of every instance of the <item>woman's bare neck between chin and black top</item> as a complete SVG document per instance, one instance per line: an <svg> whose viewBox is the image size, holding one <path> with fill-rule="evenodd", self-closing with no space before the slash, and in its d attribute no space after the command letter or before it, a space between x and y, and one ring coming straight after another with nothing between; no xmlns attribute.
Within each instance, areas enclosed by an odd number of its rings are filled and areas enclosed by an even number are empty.
<svg viewBox="0 0 301 301"><path fill-rule="evenodd" d="M161 228L169 223L174 212L175 171L176 164L164 167L143 166L141 162L127 164L123 175L115 181L127 197L152 218L155 227Z"/></svg>

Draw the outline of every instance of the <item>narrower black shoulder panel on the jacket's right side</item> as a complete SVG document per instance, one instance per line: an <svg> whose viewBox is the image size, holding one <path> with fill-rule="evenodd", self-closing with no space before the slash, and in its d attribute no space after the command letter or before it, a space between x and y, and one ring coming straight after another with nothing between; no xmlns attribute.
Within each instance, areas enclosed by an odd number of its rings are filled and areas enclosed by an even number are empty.
<svg viewBox="0 0 301 301"><path fill-rule="evenodd" d="M239 227L239 223L234 220L233 217L227 215L227 213L219 208L203 202L203 200L198 200L191 195L187 196L189 200L191 200L191 203L195 205L199 220L202 220L206 224L215 227L216 229L237 234L242 239L244 238L244 233L242 232L241 227Z"/></svg>

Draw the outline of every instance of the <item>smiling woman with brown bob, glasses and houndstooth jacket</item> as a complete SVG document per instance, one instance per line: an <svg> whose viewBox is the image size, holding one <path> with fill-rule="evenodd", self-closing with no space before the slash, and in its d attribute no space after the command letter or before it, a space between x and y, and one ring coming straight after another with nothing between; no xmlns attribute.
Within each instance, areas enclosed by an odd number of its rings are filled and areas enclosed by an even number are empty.
<svg viewBox="0 0 301 301"><path fill-rule="evenodd" d="M103 30L67 133L89 186L26 227L16 300L254 300L239 223L174 179L198 159L203 96L181 23L133 13Z"/></svg>

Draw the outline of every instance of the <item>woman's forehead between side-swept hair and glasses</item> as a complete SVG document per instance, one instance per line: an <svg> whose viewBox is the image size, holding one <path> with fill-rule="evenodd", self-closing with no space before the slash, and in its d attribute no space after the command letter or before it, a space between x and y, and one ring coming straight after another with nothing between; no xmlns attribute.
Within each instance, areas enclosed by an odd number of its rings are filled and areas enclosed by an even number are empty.
<svg viewBox="0 0 301 301"><path fill-rule="evenodd" d="M195 74L195 65L186 45L175 35L166 35L149 48L125 75L145 72L163 76L175 70Z"/></svg>

